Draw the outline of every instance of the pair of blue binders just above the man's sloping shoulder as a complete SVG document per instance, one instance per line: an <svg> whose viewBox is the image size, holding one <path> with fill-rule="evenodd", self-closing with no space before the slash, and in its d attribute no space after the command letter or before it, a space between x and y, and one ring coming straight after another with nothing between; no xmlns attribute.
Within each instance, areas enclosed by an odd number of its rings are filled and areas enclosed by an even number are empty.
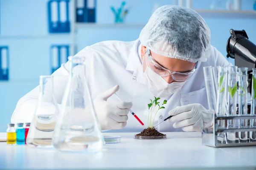
<svg viewBox="0 0 256 170"><path fill-rule="evenodd" d="M67 62L69 56L69 45L51 45L50 49L50 65L51 73L61 67L61 64Z"/></svg>

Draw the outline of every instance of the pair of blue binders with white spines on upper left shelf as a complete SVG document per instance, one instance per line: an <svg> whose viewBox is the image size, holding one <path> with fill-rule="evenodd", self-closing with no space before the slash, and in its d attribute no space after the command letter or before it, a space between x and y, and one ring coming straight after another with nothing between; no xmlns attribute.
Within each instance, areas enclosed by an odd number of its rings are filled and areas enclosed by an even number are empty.
<svg viewBox="0 0 256 170"><path fill-rule="evenodd" d="M49 33L69 33L69 0L48 1Z"/></svg>

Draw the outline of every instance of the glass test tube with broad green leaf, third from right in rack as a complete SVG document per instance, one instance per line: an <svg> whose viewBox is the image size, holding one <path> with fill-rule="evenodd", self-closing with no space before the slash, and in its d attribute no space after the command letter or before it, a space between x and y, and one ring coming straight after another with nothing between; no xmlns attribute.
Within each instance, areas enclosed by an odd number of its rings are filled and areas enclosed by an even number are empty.
<svg viewBox="0 0 256 170"><path fill-rule="evenodd" d="M231 66L227 68L228 71L228 96L227 96L227 108L228 108L228 116L236 116L236 92L237 92L237 66ZM236 120L230 119L227 120L227 128L235 128ZM236 133L228 132L227 133L228 143L236 142Z"/></svg>

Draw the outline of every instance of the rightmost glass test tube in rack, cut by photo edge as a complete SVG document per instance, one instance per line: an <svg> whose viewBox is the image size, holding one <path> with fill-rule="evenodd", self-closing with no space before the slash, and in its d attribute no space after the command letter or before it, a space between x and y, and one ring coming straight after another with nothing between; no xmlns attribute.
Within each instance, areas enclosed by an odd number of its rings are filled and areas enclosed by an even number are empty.
<svg viewBox="0 0 256 170"><path fill-rule="evenodd" d="M251 96L251 116L256 116L256 68L253 68L252 79L252 96ZM250 119L250 127L256 127L256 119ZM256 132L250 131L250 142L256 142Z"/></svg>

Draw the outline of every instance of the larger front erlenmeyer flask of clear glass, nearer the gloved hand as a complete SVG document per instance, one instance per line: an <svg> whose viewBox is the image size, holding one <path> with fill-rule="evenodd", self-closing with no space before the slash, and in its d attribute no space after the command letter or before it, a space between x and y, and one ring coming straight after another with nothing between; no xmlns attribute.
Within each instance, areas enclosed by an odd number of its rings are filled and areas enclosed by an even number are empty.
<svg viewBox="0 0 256 170"><path fill-rule="evenodd" d="M84 61L84 57L69 57L70 76L52 140L58 150L97 152L104 144Z"/></svg>

